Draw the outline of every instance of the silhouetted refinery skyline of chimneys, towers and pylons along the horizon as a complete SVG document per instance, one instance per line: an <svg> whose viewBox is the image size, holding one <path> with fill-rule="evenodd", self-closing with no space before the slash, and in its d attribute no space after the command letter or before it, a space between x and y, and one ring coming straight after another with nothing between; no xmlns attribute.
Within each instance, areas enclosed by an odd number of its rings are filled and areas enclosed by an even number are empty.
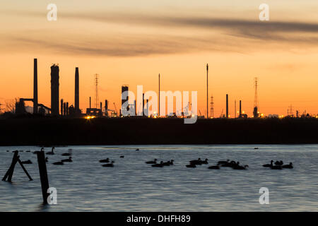
<svg viewBox="0 0 318 226"><path fill-rule="evenodd" d="M53 117L86 117L86 119L92 119L95 117L122 117L122 110L130 112L128 117L184 117L184 112L182 109L181 116L177 116L174 112L172 114L168 114L163 116L160 114L160 107L158 107L158 114L154 112L154 114L148 116L149 112L149 105L148 101L144 98L139 105L142 105L142 111L137 112L137 109L141 109L141 106L136 106L136 100L133 103L129 102L129 85L122 85L121 88L121 99L122 99L122 106L119 108L119 112L117 111L117 107L114 102L110 103L108 100L104 101L104 106L102 106L102 102L99 102L98 97L98 74L95 74L95 101L92 107L92 98L89 97L89 107L86 109L86 112L83 112L80 109L80 100L79 100L79 83L80 83L80 76L79 76L79 69L78 67L75 68L75 89L74 89L74 102L70 104L67 100L63 98L60 99L59 96L59 65L52 64L51 66L51 106L47 107L38 102L38 95L37 95L37 59L34 59L33 65L33 98L20 98L15 103L15 114L27 114L25 109L25 102L33 102L33 114L38 115L50 115ZM158 87L160 93L160 74L158 76ZM259 79L254 78L254 106L253 106L253 114L252 118L264 118L264 114L261 114L259 111L259 100L258 100L258 88L259 88ZM160 95L159 102L160 103ZM206 117L201 115L201 111L198 109L197 115L199 118L207 118L213 119L215 118L214 112L214 102L213 96L210 97L210 112L208 112L208 64L206 64ZM235 100L234 111L235 114L230 116L230 109L229 109L229 95L225 95L225 113L220 114L220 118L238 118L238 119L246 119L248 116L247 114L242 111L242 100L239 100L239 109L237 110L237 102ZM1 107L2 104L0 104ZM189 108L188 104L188 108ZM186 109L187 107L184 107ZM176 109L177 111L177 109ZM300 117L299 111L296 111L296 114L293 114L293 107L290 105L287 110L288 117ZM170 112L171 113L171 112ZM305 114L304 112L301 116L309 117L309 114ZM278 116L277 114L269 114L268 117L274 118L282 118L284 116ZM315 116L317 117L317 116Z"/></svg>

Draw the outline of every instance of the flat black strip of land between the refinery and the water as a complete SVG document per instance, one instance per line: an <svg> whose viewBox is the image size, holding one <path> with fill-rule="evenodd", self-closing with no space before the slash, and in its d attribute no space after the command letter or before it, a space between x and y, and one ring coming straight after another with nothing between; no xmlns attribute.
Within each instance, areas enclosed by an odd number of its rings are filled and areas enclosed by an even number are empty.
<svg viewBox="0 0 318 226"><path fill-rule="evenodd" d="M1 119L0 145L318 143L318 120Z"/></svg>

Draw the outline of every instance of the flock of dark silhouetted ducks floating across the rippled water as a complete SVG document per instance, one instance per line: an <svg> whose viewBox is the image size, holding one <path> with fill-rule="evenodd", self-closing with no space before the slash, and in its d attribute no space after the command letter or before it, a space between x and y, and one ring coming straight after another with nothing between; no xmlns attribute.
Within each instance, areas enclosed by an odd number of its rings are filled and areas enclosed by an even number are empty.
<svg viewBox="0 0 318 226"><path fill-rule="evenodd" d="M137 148L136 150L139 150L139 148ZM44 151L44 148L41 148L40 151ZM8 152L8 150L7 150ZM13 151L14 152L14 151ZM23 150L19 150L19 152L23 152ZM30 150L26 150L25 152L30 153ZM33 154L38 153L39 150L36 150L33 152ZM52 148L51 151L47 152L46 155L55 155L54 153L54 147ZM62 153L62 156L69 156L69 158L60 160L59 162L52 162L53 165L64 165L64 162L73 162L72 160L72 153L71 153L71 149L69 149L68 153ZM124 155L120 156L121 158L124 158ZM49 158L46 157L45 161L48 162ZM170 160L167 162L157 162L157 159L151 160L151 161L147 161L145 162L148 165L151 165L151 167L165 167L165 166L170 166L170 165L174 165L175 160ZM106 163L106 164L102 164L102 167L114 167L114 160L110 160L110 158L106 158L106 159L102 159L99 160L100 163ZM33 162L31 160L27 160L27 161L22 161L23 164L33 164ZM206 158L205 160L201 160L201 158L198 158L197 160L190 160L189 164L186 165L187 168L196 168L197 165L208 165L208 159ZM220 167L230 167L232 169L248 169L249 165L240 165L240 162L235 162L235 161L230 161L230 160L226 160L226 161L218 161L217 165L211 165L208 167L208 169L220 169ZM288 165L284 165L283 161L276 161L274 162L273 160L271 160L270 164L265 164L263 165L263 167L268 167L270 169L293 169L293 162L290 162Z"/></svg>

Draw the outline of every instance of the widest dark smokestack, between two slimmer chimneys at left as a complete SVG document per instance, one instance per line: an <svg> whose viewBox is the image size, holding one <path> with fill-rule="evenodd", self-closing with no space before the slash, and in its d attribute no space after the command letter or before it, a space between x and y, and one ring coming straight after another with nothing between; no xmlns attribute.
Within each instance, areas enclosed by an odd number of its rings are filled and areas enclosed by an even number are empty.
<svg viewBox="0 0 318 226"><path fill-rule="evenodd" d="M59 115L59 66L51 66L51 114Z"/></svg>

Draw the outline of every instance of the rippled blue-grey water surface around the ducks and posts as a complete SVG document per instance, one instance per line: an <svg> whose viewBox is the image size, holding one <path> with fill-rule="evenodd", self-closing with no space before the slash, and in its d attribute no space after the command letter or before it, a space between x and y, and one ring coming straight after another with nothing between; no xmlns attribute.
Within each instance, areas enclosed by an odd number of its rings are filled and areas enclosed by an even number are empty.
<svg viewBox="0 0 318 226"><path fill-rule="evenodd" d="M29 182L16 165L13 183L0 182L0 211L317 211L318 145L117 145L69 146L49 157L49 185L57 189L57 205L43 206L36 155L19 153L33 177ZM73 162L52 165L67 157ZM139 151L136 151L139 148ZM10 150L10 152L6 152ZM0 147L0 177L11 164L12 150L37 147ZM46 151L49 151L46 148ZM124 158L120 158L124 155ZM114 167L102 167L109 157ZM189 160L236 160L247 170L187 168ZM153 168L144 162L157 158L175 165ZM293 162L294 169L271 170L270 160ZM269 188L269 205L259 204L259 189Z"/></svg>

